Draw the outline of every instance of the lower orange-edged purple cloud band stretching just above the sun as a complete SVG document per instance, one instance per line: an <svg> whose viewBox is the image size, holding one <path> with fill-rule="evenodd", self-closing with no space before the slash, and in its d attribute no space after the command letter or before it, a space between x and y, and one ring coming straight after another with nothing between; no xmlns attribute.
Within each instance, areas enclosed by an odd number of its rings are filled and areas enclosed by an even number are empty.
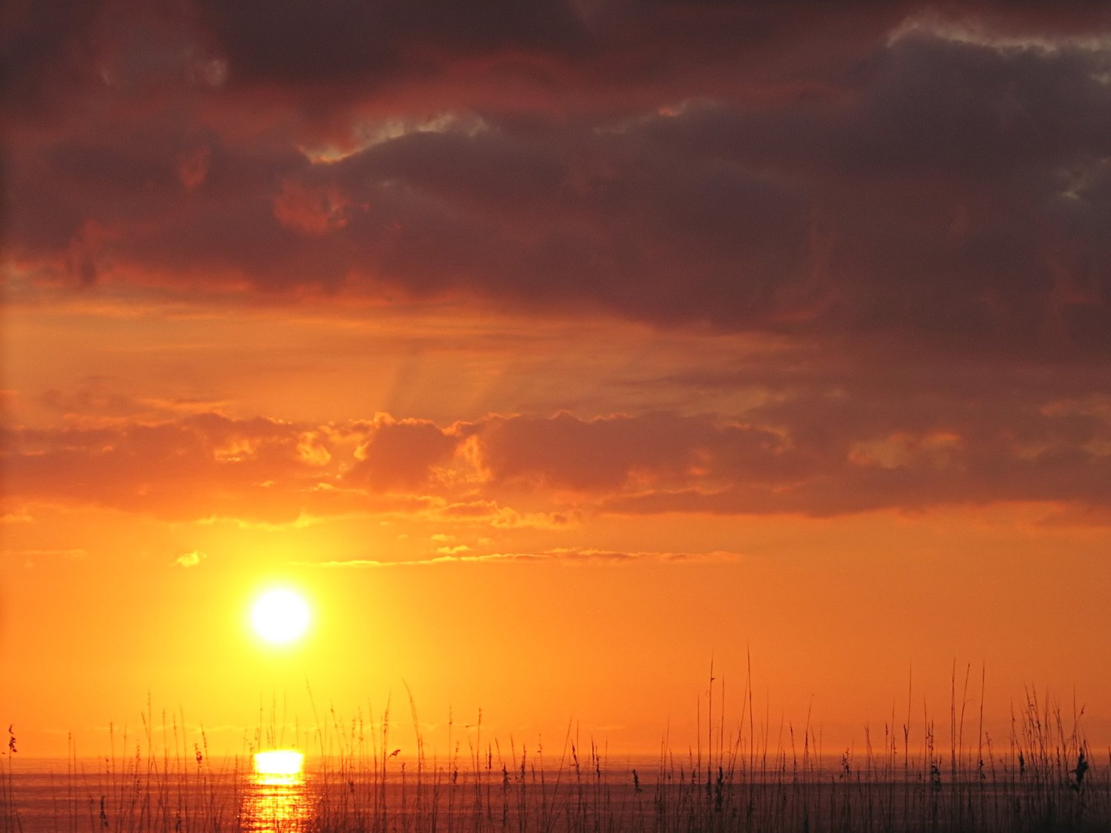
<svg viewBox="0 0 1111 833"><path fill-rule="evenodd" d="M172 520L427 512L494 525L573 513L831 515L995 501L1108 508L1111 401L928 411L773 401L748 421L677 413L298 425L199 414L8 431L9 500ZM524 519L524 520L522 520ZM454 554L454 553L449 553Z"/></svg>

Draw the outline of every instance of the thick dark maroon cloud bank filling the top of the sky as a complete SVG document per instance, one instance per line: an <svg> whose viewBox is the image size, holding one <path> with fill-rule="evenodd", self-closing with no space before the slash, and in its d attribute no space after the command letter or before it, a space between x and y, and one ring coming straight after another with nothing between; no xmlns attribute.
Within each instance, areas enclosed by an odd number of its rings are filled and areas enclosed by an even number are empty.
<svg viewBox="0 0 1111 833"><path fill-rule="evenodd" d="M146 12L172 66L114 4L64 36L20 10L40 48L12 39L9 63L44 100L103 104L29 104L10 131L20 269L1111 347L1105 21L1083 4L984 4L978 26L913 3L328 6ZM198 81L212 61L227 78Z"/></svg>

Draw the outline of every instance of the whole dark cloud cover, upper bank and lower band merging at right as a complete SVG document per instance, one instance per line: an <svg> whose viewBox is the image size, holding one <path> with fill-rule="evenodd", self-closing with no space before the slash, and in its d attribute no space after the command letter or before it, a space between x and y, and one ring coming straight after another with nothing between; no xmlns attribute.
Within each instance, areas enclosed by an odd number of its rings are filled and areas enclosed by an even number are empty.
<svg viewBox="0 0 1111 833"><path fill-rule="evenodd" d="M640 380L684 409L300 424L121 401L9 429L17 501L559 524L1111 493L1111 21L1090 3L4 14L20 301L454 299L797 351ZM720 390L755 404L697 407Z"/></svg>

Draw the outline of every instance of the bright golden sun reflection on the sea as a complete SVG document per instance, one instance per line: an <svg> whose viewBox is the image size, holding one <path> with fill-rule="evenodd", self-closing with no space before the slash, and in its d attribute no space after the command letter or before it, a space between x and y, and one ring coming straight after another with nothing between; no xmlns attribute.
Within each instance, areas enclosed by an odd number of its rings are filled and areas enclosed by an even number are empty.
<svg viewBox="0 0 1111 833"><path fill-rule="evenodd" d="M300 833L309 814L304 755L294 750L254 754L254 772L243 791L243 830L257 833Z"/></svg>

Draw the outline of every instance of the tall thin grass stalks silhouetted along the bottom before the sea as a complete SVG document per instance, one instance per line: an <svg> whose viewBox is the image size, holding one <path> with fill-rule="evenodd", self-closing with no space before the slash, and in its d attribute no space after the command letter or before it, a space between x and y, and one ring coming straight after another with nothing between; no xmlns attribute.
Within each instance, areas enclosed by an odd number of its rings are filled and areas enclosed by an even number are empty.
<svg viewBox="0 0 1111 833"><path fill-rule="evenodd" d="M554 750L502 743L482 715L449 720L446 752L429 752L409 697L406 743L392 739L389 705L343 720L329 711L298 741L313 761L302 782L262 787L250 753L278 744L273 717L244 737L240 756L191 745L180 715L156 729L148 705L142 733L127 732L96 766L72 750L52 785L53 812L34 831L21 807L14 737L0 772L2 833L883 833L917 831L1111 830L1111 752L1094 761L1082 710L1067 719L1034 690L1015 709L1000 744L979 713L967 714L970 672L958 697L953 672L948 743L923 710L892 711L882 731L865 726L862 750L827 754L810 725L754 719L751 675L735 723L711 669L697 741L678 752L667 739L654 761L612 761L569 726ZM960 704L960 705L958 705ZM271 710L273 715L276 710ZM314 709L316 711L316 709ZM701 712L701 710L700 710ZM912 721L917 725L912 725ZM973 726L973 723L975 724ZM975 737L971 736L975 729ZM965 732L968 731L968 735ZM920 743L912 743L920 737ZM118 747L119 746L119 747ZM942 749L942 746L944 746ZM1101 755L1102 759L1102 755Z"/></svg>

